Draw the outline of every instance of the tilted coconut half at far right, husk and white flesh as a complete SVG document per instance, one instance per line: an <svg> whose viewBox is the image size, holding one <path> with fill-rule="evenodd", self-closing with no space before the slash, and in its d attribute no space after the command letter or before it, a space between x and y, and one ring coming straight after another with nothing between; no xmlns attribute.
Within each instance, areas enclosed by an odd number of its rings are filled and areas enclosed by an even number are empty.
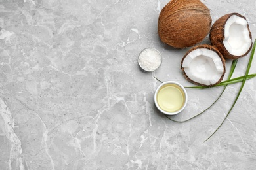
<svg viewBox="0 0 256 170"><path fill-rule="evenodd" d="M251 31L244 16L226 14L211 27L210 41L226 59L246 56L252 48Z"/></svg>

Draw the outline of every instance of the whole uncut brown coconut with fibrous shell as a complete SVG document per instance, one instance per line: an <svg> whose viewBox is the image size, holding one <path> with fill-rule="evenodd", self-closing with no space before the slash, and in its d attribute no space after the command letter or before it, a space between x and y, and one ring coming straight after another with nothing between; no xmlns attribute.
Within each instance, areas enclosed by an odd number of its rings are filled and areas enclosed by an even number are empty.
<svg viewBox="0 0 256 170"><path fill-rule="evenodd" d="M171 0L158 18L161 41L174 48L202 42L210 29L210 10L200 0Z"/></svg>

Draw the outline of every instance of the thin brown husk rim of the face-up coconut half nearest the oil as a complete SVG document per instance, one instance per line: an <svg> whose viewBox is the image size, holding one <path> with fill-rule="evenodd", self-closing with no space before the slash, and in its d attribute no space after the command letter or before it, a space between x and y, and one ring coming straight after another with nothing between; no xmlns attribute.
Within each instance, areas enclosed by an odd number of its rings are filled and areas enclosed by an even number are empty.
<svg viewBox="0 0 256 170"><path fill-rule="evenodd" d="M218 54L218 56L221 58L221 61L223 63L223 68L224 68L224 71L223 71L223 75L221 75L221 78L218 80L218 82L216 82L215 84L210 84L210 85L205 85L205 84L201 84L199 82L195 82L194 80L191 80L187 75L186 75L186 72L184 71L184 67L182 67L183 65L183 61L184 59L186 58L186 56L188 56L188 54L190 52L192 52L193 50L196 50L196 49L199 49L199 48L206 48L206 49L209 49L209 50L212 50L214 52L216 52ZM189 82L192 82L193 84L196 84L198 86L207 86L207 87L210 87L210 86L214 86L216 84L219 84L222 80L223 80L223 77L226 73L226 64L225 64L225 59L223 58L223 55L221 54L221 52L219 52L219 50L217 48L215 48L215 46L211 46L209 44L203 44L203 45L197 45L197 46L194 46L193 48L191 48L190 50L188 50L188 52L186 52L186 54L184 55L184 57L182 58L181 60L181 70L182 70L182 73L184 75L184 77L186 78L186 80L188 80Z"/></svg>

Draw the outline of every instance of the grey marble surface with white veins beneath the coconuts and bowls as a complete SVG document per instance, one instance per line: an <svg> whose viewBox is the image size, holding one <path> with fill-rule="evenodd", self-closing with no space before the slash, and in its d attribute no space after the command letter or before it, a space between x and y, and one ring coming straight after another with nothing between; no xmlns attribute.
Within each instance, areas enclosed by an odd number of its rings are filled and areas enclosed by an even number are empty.
<svg viewBox="0 0 256 170"><path fill-rule="evenodd" d="M255 39L256 1L202 2L213 22L230 12L244 15ZM188 49L158 38L158 15L167 3L0 1L0 169L255 169L256 78L206 142L241 84L228 86L214 107L186 123L154 106L160 82L153 76L192 85L180 69ZM153 73L137 63L148 47L163 56ZM233 77L244 75L248 60L239 59ZM186 109L172 118L198 114L222 90L188 89Z"/></svg>

